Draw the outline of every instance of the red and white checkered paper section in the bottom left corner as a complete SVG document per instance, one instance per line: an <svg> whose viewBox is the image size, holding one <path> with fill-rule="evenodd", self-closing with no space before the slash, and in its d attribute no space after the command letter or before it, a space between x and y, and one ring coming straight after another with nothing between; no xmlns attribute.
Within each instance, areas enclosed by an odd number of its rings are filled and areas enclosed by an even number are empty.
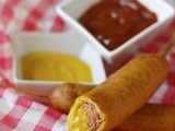
<svg viewBox="0 0 175 131"><path fill-rule="evenodd" d="M68 131L66 116L27 99L13 90L0 88L0 130Z"/></svg>

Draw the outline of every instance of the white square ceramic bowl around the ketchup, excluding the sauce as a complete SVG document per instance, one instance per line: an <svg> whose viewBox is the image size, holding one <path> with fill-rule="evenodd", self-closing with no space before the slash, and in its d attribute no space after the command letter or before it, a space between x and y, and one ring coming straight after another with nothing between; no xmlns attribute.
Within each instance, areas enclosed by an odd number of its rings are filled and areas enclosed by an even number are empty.
<svg viewBox="0 0 175 131"><path fill-rule="evenodd" d="M71 26L75 27L82 35L90 40L92 45L106 58L112 61L113 58L120 57L128 51L135 51L141 46L145 46L149 41L155 38L170 25L174 17L174 9L163 0L138 0L150 11L153 11L158 15L158 22L140 32L135 37L127 40L120 47L109 51L103 47L98 40L95 39L79 22L79 17L93 4L100 0L65 0L61 4L58 4L58 14L66 20Z"/></svg>

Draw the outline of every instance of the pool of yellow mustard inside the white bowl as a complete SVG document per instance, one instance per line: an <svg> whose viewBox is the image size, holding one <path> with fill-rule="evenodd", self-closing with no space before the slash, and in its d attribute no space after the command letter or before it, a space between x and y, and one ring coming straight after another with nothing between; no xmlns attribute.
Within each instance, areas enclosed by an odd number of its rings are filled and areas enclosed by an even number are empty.
<svg viewBox="0 0 175 131"><path fill-rule="evenodd" d="M38 51L21 58L25 80L92 82L90 67L77 57Z"/></svg>

